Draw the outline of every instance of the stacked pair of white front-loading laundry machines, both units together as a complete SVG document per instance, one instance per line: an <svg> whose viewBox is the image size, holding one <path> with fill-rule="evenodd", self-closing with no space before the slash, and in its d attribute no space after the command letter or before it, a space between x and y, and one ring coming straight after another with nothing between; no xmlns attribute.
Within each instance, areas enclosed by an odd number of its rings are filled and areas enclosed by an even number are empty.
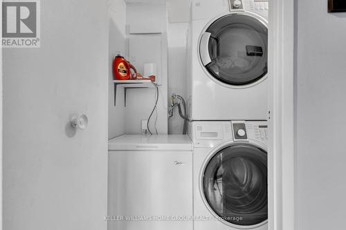
<svg viewBox="0 0 346 230"><path fill-rule="evenodd" d="M266 230L268 0L193 0L191 17L194 230Z"/></svg>

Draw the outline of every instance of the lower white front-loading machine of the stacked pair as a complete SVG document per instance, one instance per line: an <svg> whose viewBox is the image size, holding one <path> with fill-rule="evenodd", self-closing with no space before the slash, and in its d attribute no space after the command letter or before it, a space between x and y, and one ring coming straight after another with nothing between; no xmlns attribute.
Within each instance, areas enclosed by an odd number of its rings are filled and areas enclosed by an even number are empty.
<svg viewBox="0 0 346 230"><path fill-rule="evenodd" d="M267 122L192 122L194 230L268 229Z"/></svg>

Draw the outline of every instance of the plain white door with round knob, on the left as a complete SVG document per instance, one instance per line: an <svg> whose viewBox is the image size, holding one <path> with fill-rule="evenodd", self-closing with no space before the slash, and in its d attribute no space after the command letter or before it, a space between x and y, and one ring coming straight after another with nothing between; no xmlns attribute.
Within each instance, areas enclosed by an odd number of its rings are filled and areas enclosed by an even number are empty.
<svg viewBox="0 0 346 230"><path fill-rule="evenodd" d="M108 2L37 1L41 47L2 50L3 229L107 227Z"/></svg>

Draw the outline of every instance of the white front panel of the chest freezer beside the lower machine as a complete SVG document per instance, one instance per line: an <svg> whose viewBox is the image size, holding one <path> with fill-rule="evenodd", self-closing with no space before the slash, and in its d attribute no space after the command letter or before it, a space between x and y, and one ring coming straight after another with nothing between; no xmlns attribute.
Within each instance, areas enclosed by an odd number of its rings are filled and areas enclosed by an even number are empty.
<svg viewBox="0 0 346 230"><path fill-rule="evenodd" d="M109 152L109 215L124 218L109 230L192 229L160 219L192 216L192 152Z"/></svg>

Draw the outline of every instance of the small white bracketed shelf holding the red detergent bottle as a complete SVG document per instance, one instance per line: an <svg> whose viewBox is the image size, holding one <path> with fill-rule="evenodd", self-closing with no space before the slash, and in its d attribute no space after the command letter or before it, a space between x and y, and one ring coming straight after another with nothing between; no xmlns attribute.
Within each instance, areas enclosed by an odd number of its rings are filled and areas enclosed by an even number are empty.
<svg viewBox="0 0 346 230"><path fill-rule="evenodd" d="M117 88L122 87L124 88L124 95L125 95L125 107L126 107L126 94L127 89L131 88L156 88L158 87L158 84L155 82L152 82L150 80L113 80L114 84L114 106L116 106L116 93Z"/></svg>

